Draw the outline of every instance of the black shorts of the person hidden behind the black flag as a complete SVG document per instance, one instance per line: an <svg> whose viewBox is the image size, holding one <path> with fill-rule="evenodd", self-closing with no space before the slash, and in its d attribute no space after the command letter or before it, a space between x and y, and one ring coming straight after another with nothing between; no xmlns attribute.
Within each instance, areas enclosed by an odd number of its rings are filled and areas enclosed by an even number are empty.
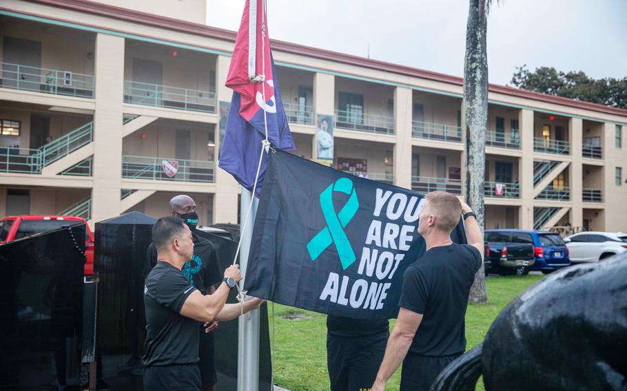
<svg viewBox="0 0 627 391"><path fill-rule="evenodd" d="M327 368L331 391L369 390L385 355L388 331L365 337L327 334Z"/></svg>

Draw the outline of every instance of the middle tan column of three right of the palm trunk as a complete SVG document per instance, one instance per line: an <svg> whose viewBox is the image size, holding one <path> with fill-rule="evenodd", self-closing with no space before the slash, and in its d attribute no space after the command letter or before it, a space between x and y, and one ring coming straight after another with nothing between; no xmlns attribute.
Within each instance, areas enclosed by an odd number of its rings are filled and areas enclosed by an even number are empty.
<svg viewBox="0 0 627 391"><path fill-rule="evenodd" d="M570 118L568 120L568 136L571 138L571 170L569 172L571 182L571 224L573 226L584 226L584 166L582 164L583 146L583 121L581 118Z"/></svg>

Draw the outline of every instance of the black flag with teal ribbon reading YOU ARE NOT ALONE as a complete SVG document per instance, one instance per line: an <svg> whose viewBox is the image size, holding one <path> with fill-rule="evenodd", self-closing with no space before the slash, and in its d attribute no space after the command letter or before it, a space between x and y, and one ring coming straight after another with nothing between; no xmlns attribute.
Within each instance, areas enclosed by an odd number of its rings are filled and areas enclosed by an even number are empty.
<svg viewBox="0 0 627 391"><path fill-rule="evenodd" d="M270 154L245 278L248 294L356 319L398 314L424 253L423 195L277 150ZM460 224L451 233L465 243Z"/></svg>

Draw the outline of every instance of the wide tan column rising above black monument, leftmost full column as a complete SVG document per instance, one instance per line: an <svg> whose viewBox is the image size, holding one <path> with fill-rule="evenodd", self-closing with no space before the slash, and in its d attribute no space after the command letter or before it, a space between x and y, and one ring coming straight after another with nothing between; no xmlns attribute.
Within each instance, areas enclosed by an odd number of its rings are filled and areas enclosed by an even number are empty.
<svg viewBox="0 0 627 391"><path fill-rule="evenodd" d="M119 215L122 180L124 44L119 36L96 35L94 187L92 221Z"/></svg>

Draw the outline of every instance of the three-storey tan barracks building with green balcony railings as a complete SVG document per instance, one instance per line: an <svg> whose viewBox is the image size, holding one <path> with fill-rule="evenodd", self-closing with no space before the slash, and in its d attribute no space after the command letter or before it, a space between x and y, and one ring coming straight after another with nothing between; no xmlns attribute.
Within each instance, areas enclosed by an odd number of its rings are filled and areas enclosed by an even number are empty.
<svg viewBox="0 0 627 391"><path fill-rule="evenodd" d="M236 34L205 8L0 3L0 215L160 216L189 193L201 224L238 221L238 184L217 169ZM464 195L461 78L271 45L296 154L319 157L329 118L334 167ZM627 231L626 128L625 109L491 85L486 229Z"/></svg>

